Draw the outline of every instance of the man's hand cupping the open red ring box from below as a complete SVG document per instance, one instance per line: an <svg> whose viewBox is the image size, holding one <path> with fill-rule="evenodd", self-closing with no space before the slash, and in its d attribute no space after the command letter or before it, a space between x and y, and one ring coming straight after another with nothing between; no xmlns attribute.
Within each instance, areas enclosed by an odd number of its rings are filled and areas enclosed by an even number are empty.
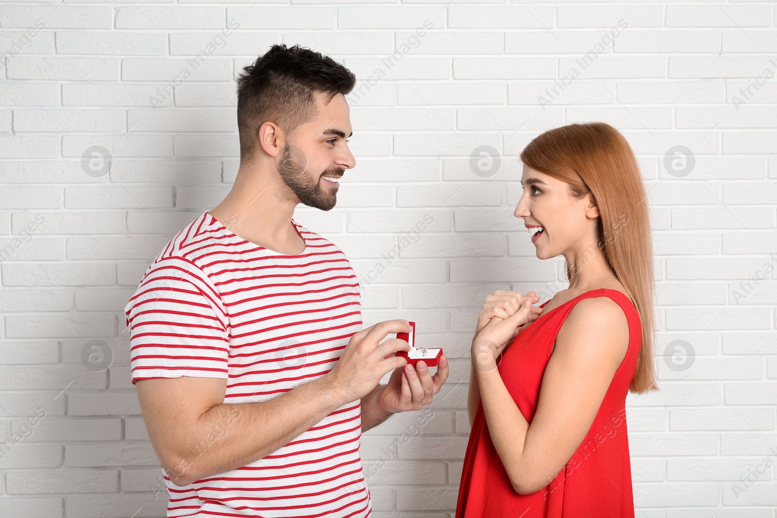
<svg viewBox="0 0 777 518"><path fill-rule="evenodd" d="M434 376L429 374L429 367L423 361L416 363L416 368L406 365L392 373L389 383L378 396L378 405L386 412L392 413L418 410L432 402L432 396L440 391L447 379L447 356L440 357L437 374Z"/></svg>

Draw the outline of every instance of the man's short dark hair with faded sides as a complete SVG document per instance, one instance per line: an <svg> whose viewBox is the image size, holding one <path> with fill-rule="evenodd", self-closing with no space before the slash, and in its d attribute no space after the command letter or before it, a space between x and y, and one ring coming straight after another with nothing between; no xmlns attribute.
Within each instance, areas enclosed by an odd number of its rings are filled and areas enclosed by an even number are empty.
<svg viewBox="0 0 777 518"><path fill-rule="evenodd" d="M268 120L289 134L317 115L314 92L347 95L356 76L329 56L299 45L273 45L243 68L238 84L240 159L253 158L259 128Z"/></svg>

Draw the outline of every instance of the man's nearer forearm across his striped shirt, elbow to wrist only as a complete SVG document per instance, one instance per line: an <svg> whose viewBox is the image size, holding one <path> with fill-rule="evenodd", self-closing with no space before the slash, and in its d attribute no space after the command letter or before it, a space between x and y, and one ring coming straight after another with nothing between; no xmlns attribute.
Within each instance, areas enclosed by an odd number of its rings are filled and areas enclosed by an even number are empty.
<svg viewBox="0 0 777 518"><path fill-rule="evenodd" d="M188 485L250 464L283 447L344 405L329 377L301 384L266 402L215 405L170 445L165 466L176 485Z"/></svg>

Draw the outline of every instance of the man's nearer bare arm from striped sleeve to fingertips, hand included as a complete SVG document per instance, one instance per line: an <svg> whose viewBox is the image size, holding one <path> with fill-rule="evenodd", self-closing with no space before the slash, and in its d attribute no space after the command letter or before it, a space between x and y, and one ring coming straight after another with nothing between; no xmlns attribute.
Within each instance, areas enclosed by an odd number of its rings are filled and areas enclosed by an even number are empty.
<svg viewBox="0 0 777 518"><path fill-rule="evenodd" d="M176 377L138 380L152 446L176 485L188 485L256 461L294 440L336 408L368 395L409 350L399 320L355 333L333 370L266 402L225 404L226 380ZM237 411L237 412L235 412Z"/></svg>

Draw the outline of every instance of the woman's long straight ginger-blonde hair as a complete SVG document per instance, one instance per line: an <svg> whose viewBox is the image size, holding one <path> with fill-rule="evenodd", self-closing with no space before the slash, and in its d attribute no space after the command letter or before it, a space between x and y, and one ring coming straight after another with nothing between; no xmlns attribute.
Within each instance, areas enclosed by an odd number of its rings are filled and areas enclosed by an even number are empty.
<svg viewBox="0 0 777 518"><path fill-rule="evenodd" d="M647 195L631 146L607 123L575 123L536 137L521 152L521 162L568 183L570 196L580 199L590 192L594 197L601 214L598 246L632 294L642 323L642 347L629 390L655 390L653 238ZM569 264L566 276L571 279Z"/></svg>

